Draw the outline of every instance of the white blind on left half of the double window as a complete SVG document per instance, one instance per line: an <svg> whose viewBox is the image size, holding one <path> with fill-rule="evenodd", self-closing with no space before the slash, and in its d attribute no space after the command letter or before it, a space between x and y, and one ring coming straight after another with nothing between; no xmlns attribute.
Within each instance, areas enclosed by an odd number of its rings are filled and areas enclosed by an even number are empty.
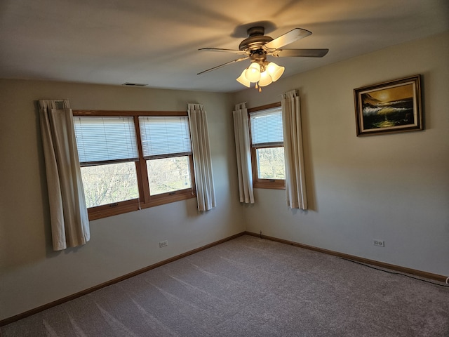
<svg viewBox="0 0 449 337"><path fill-rule="evenodd" d="M75 116L81 166L138 161L133 117Z"/></svg>

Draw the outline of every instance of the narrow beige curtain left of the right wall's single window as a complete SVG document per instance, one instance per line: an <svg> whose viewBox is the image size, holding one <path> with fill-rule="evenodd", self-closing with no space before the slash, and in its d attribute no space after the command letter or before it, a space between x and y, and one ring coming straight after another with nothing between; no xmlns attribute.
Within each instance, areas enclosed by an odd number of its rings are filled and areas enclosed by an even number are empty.
<svg viewBox="0 0 449 337"><path fill-rule="evenodd" d="M254 204L253 171L251 171L250 132L246 103L236 105L234 136L236 138L237 172L239 174L240 202Z"/></svg>

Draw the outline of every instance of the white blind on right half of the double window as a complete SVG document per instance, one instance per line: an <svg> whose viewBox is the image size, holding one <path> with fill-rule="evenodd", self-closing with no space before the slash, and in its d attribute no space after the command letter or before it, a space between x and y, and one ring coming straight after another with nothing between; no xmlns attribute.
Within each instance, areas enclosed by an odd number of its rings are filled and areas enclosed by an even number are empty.
<svg viewBox="0 0 449 337"><path fill-rule="evenodd" d="M192 154L187 116L140 116L139 125L145 159Z"/></svg>

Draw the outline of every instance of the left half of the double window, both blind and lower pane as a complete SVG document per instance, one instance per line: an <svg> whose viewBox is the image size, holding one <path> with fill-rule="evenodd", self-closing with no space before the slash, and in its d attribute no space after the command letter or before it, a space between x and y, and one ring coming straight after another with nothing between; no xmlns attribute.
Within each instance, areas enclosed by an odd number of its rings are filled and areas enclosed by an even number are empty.
<svg viewBox="0 0 449 337"><path fill-rule="evenodd" d="M74 117L86 206L139 197L133 117Z"/></svg>

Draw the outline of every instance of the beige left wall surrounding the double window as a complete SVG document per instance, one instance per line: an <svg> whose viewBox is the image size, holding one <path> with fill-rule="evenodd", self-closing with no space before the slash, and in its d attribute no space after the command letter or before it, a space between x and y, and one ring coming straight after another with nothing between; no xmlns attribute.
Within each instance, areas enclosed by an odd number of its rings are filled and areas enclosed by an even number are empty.
<svg viewBox="0 0 449 337"><path fill-rule="evenodd" d="M229 95L1 80L0 319L245 230L238 200ZM196 199L91 221L91 241L51 249L45 166L35 100L67 98L73 109L208 112L217 207ZM159 242L168 240L160 249Z"/></svg>

